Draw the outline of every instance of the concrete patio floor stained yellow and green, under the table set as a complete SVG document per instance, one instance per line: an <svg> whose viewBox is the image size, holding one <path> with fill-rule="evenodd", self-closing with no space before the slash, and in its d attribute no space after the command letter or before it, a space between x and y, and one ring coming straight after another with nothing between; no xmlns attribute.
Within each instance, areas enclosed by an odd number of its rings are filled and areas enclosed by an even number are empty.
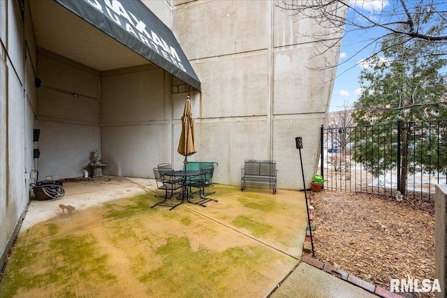
<svg viewBox="0 0 447 298"><path fill-rule="evenodd" d="M302 192L216 185L219 202L169 210L152 179L64 189L31 201L0 297L375 297L300 263Z"/></svg>

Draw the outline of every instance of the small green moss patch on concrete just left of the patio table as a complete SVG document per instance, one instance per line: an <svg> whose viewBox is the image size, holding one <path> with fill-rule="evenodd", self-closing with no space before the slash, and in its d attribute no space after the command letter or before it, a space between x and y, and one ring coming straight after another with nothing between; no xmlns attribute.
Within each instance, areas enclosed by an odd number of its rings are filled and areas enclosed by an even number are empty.
<svg viewBox="0 0 447 298"><path fill-rule="evenodd" d="M117 220L153 212L154 209L150 207L153 201L150 198L152 198L150 195L140 195L135 198L121 200L121 202L113 201L105 203L103 205L105 208L103 217Z"/></svg>

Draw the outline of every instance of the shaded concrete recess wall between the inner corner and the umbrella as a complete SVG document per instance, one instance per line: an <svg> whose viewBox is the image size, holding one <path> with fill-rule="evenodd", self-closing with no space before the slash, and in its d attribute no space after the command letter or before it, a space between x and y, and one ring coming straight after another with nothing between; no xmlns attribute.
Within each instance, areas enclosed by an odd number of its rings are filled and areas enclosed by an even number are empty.
<svg viewBox="0 0 447 298"><path fill-rule="evenodd" d="M156 66L105 72L101 78L104 174L154 177L170 162L170 75Z"/></svg>

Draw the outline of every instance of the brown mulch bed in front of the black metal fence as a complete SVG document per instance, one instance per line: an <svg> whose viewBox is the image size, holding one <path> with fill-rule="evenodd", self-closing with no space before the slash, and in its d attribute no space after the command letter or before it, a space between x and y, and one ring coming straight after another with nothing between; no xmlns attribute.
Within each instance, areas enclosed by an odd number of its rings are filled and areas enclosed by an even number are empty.
<svg viewBox="0 0 447 298"><path fill-rule="evenodd" d="M311 192L315 258L390 290L390 278L434 280L434 202ZM432 293L407 293L434 297Z"/></svg>

